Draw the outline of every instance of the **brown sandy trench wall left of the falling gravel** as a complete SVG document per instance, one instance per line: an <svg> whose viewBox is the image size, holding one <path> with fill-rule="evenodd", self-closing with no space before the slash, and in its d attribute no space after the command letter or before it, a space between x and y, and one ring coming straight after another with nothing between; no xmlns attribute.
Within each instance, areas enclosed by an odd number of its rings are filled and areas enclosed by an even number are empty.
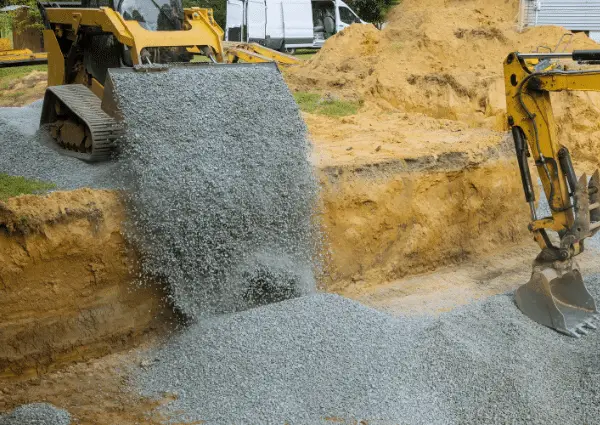
<svg viewBox="0 0 600 425"><path fill-rule="evenodd" d="M114 192L0 202L0 377L40 373L138 344L170 322L136 256Z"/></svg>

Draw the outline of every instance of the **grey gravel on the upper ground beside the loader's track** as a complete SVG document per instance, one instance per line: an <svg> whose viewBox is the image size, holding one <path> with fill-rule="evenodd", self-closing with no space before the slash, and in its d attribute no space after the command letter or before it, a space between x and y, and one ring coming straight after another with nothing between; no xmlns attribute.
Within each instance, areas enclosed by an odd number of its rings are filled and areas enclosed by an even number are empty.
<svg viewBox="0 0 600 425"><path fill-rule="evenodd" d="M0 108L0 173L53 182L58 189L114 187L114 162L86 164L41 143L42 101Z"/></svg>

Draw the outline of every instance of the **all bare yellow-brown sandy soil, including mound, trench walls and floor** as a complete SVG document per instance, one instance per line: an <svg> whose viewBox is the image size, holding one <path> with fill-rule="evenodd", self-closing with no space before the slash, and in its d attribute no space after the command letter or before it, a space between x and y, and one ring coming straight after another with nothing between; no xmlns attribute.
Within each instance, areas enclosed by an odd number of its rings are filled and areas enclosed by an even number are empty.
<svg viewBox="0 0 600 425"><path fill-rule="evenodd" d="M513 291L538 253L506 131L502 60L565 30L518 31L516 0L446 3L404 0L384 30L353 25L283 71L301 108L306 94L317 99L302 116L326 236L319 290L394 316ZM571 48L595 47L573 37ZM0 106L41 99L45 78L43 67L0 73ZM576 168L593 171L600 97L553 101ZM162 406L178 395L142 396L130 371L150 367L148 350L180 325L163 288L133 284L139 258L124 215L114 190L0 200L0 414L44 401L79 424L169 419ZM600 273L598 255L595 238L579 257L584 276Z"/></svg>

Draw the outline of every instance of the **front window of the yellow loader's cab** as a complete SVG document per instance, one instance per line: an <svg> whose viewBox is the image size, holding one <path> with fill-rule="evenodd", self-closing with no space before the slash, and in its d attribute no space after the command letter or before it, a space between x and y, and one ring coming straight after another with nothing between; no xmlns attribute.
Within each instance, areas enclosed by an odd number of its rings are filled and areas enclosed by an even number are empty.
<svg viewBox="0 0 600 425"><path fill-rule="evenodd" d="M150 31L181 29L183 8L178 0L121 0L119 12L128 21L138 21Z"/></svg>

